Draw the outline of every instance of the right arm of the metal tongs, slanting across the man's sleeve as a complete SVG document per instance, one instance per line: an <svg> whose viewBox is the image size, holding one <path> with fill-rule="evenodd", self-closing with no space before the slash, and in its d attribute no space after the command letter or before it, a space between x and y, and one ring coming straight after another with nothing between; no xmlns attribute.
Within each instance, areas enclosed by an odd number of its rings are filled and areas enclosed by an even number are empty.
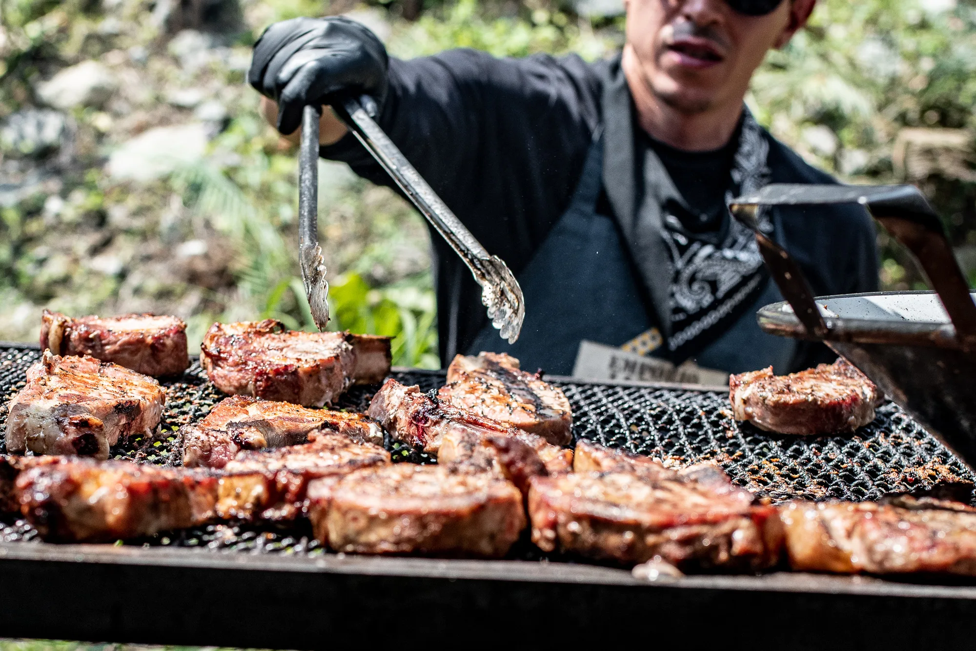
<svg viewBox="0 0 976 651"><path fill-rule="evenodd" d="M513 343L518 338L525 319L525 299L522 297L522 288L518 286L505 262L497 255L489 254L474 239L461 220L389 140L359 100L349 99L342 107L335 108L366 151L373 154L400 190L410 197L437 233L465 261L474 280L481 285L481 302L488 309L488 318L492 325L501 330L503 339Z"/></svg>

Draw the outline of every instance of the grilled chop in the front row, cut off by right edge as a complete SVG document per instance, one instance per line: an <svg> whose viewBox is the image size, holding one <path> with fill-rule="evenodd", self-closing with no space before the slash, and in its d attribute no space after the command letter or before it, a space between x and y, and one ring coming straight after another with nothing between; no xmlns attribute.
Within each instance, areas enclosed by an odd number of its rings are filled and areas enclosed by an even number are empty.
<svg viewBox="0 0 976 651"><path fill-rule="evenodd" d="M964 504L797 501L780 518L793 570L976 576L976 509Z"/></svg>

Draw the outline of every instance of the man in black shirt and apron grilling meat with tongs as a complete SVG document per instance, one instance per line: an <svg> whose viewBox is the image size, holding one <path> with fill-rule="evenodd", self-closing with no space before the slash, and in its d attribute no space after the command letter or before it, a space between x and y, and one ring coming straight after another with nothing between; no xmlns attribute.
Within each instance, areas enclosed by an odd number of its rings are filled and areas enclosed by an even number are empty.
<svg viewBox="0 0 976 651"><path fill-rule="evenodd" d="M829 356L762 333L782 300L727 199L768 183L833 183L752 119L753 70L807 20L815 0L625 0L627 44L612 61L497 60L454 50L387 59L341 18L271 25L251 84L282 134L305 104L366 94L394 143L525 294L519 340L487 323L479 287L432 234L440 355L508 351L568 374L582 341L671 364L740 372L802 369ZM321 155L391 185L323 111ZM763 228L817 295L876 289L874 226L860 208L775 209Z"/></svg>

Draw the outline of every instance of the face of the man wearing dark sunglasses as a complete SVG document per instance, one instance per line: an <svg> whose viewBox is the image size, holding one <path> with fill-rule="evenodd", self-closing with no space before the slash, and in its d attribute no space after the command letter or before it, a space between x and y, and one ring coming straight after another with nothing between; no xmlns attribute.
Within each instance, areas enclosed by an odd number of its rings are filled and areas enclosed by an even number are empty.
<svg viewBox="0 0 976 651"><path fill-rule="evenodd" d="M741 103L752 71L767 50L790 40L813 0L783 0L765 16L739 14L723 0L625 0L625 5L628 49L643 82L673 109L695 113Z"/></svg>

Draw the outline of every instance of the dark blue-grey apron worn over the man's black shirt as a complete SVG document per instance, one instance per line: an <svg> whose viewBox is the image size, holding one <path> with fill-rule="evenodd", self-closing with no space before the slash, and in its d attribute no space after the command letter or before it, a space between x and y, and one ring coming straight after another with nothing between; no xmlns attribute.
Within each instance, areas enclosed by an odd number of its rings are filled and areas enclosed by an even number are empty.
<svg viewBox="0 0 976 651"><path fill-rule="evenodd" d="M525 297L518 340L509 344L487 324L468 355L505 352L518 358L522 369L569 375L580 341L621 346L656 325L616 220L596 212L602 185L603 143L597 136L569 208L518 275ZM755 323L756 310L778 300L779 291L769 282L752 308L702 351L699 365L729 372L789 368L795 342L765 334Z"/></svg>

